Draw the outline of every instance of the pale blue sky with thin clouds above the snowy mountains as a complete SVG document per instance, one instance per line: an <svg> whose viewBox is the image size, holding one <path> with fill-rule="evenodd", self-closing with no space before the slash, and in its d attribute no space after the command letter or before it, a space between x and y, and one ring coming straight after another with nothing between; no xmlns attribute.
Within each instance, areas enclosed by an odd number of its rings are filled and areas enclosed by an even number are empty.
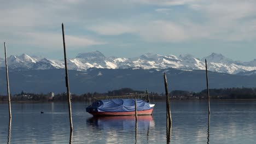
<svg viewBox="0 0 256 144"><path fill-rule="evenodd" d="M69 58L98 50L107 57L217 52L252 61L255 7L250 0L9 0L0 5L0 43L8 55L63 59L63 22Z"/></svg>

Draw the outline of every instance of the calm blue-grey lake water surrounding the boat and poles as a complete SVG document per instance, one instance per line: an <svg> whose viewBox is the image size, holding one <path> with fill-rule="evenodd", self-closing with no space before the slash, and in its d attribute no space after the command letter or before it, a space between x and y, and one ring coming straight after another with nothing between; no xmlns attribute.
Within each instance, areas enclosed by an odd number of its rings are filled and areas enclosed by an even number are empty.
<svg viewBox="0 0 256 144"><path fill-rule="evenodd" d="M72 143L166 143L165 102L153 116L93 118L87 103L72 103ZM8 104L0 103L0 143L69 143L67 103L13 103L9 133ZM255 143L256 101L172 101L170 143ZM44 113L40 113L44 111Z"/></svg>

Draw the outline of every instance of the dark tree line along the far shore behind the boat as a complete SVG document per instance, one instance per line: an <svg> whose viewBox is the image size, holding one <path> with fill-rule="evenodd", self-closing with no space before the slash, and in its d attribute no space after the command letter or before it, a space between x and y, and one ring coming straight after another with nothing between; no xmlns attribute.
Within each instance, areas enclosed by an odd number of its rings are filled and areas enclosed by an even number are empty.
<svg viewBox="0 0 256 144"><path fill-rule="evenodd" d="M135 91L131 88L121 88L114 91L108 91L107 93L85 93L81 95L71 94L72 101L90 101L94 98L104 97L110 98L117 95L130 95L130 94L144 94L144 91ZM11 101L67 101L67 93L55 94L54 97L51 93L48 94L34 94L21 92L11 96ZM150 99L154 100L165 100L164 93L149 93ZM144 97L139 97L144 99ZM256 88L219 88L210 89L211 99L256 99ZM146 98L145 98L146 99ZM171 100L203 100L207 99L207 89L201 92L189 92L174 90L170 92ZM8 101L6 95L0 95L0 101Z"/></svg>

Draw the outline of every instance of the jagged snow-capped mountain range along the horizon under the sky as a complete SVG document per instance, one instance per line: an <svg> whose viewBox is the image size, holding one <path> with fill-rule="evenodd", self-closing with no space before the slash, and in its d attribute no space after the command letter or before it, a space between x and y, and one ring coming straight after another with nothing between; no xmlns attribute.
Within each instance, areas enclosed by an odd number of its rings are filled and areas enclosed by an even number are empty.
<svg viewBox="0 0 256 144"><path fill-rule="evenodd" d="M68 59L68 69L87 70L89 68L107 69L205 69L205 59L207 59L208 70L219 73L237 74L246 71L256 70L256 59L251 62L232 61L219 53L212 53L203 57L200 61L192 55L157 55L146 53L134 58L105 57L100 51L79 53L77 57ZM9 69L61 69L65 68L63 61L48 59L44 57L30 57L26 54L8 57ZM5 67L5 61L0 58L0 67Z"/></svg>

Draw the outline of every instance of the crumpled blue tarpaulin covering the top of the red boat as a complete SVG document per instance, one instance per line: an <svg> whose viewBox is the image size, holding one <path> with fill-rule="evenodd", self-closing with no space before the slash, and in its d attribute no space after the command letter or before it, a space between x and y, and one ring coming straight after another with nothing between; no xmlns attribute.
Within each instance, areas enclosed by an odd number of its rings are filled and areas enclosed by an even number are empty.
<svg viewBox="0 0 256 144"><path fill-rule="evenodd" d="M137 111L152 109L144 100L137 99ZM135 111L135 99L97 100L86 107L87 112L129 112Z"/></svg>

